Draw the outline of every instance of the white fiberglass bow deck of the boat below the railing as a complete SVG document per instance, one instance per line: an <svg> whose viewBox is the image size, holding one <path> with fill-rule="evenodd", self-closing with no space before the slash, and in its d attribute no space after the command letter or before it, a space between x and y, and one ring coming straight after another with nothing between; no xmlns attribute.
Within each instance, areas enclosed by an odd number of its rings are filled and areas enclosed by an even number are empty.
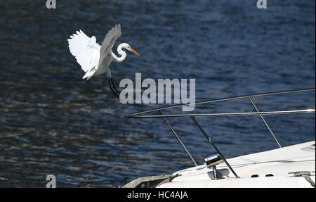
<svg viewBox="0 0 316 202"><path fill-rule="evenodd" d="M213 169L205 165L174 172L181 176L159 188L167 187L312 187L304 177L293 172L310 172L315 182L315 141L286 146L246 156L229 158L228 163L240 178L235 178L225 163L216 166L223 179L213 179ZM292 173L291 173L292 172ZM258 175L258 177L251 177ZM265 175L270 175L266 177ZM271 176L273 175L273 176Z"/></svg>

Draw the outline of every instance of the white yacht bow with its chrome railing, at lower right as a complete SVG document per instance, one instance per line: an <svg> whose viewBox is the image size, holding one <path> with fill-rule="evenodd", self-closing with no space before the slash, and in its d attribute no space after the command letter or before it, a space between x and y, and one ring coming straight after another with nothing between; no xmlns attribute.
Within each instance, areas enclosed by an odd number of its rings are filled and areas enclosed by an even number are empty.
<svg viewBox="0 0 316 202"><path fill-rule="evenodd" d="M179 170L171 175L159 175L140 177L124 185L123 188L156 187L156 188L239 188L239 187L265 187L265 188L289 188L289 187L315 187L315 141L309 141L292 146L282 147L277 137L270 129L263 115L289 114L289 113L315 113L315 109L300 109L291 111L258 111L252 100L256 96L271 96L276 94L290 94L304 91L315 91L312 89L299 89L292 91L277 91L264 94L251 94L236 96L225 99L201 101L195 104L213 103L236 99L249 99L255 112L250 113L204 113L204 114L163 114L164 109L177 108L182 105L155 108L148 111L132 113L130 118L162 118L171 132L178 139L181 146L191 158L195 167ZM144 113L158 112L159 115L143 115ZM209 116L235 116L235 115L257 115L261 118L279 148L260 153L252 153L235 158L225 158L223 153L216 147L208 134L202 129L195 117ZM216 150L217 155L205 158L204 165L197 165L195 159L187 150L183 141L173 130L168 122L169 117L190 117L204 134L209 144Z"/></svg>

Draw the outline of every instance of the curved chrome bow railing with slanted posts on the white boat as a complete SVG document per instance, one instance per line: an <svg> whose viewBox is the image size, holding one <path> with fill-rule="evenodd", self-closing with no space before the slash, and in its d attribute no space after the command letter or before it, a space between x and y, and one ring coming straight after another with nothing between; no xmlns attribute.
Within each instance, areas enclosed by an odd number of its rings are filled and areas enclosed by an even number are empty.
<svg viewBox="0 0 316 202"><path fill-rule="evenodd" d="M234 97L228 97L228 98L223 98L223 99L211 99L211 100L206 100L206 101L199 101L195 103L187 103L187 104L177 104L177 105L172 105L172 106L164 106L160 108L152 108L147 111L140 111L137 113L131 113L128 115L129 118L162 118L164 122L166 122L166 125L170 128L171 132L174 134L176 139L180 142L181 146L183 146L183 149L185 149L185 152L187 153L188 156L190 156L192 162L197 166L196 160L192 157L190 152L187 150L185 145L183 144L183 141L181 141L180 137L176 133L175 130L173 130L173 127L171 127L170 123L168 122L167 118L183 118L183 117L190 117L195 125L199 128L199 130L204 134L204 137L206 137L207 141L209 141L209 144L213 146L213 148L216 150L220 158L223 159L224 163L228 166L230 171L235 175L235 177L238 177L236 172L231 168L230 164L227 162L225 156L223 156L223 153L220 153L219 149L216 147L216 145L213 143L211 140L211 137L209 137L208 134L203 130L201 125L197 122L195 117L210 117L210 116L240 116L240 115L258 115L261 120L263 121L265 127L268 128L270 134L272 135L273 139L277 142L277 145L279 147L282 147L281 144L279 143L279 140L275 136L275 134L272 132L271 128L268 125L268 122L265 121L263 118L263 115L276 115L276 114L293 114L293 113L315 113L315 108L312 109L303 109L303 110L290 110L290 111L259 111L258 108L256 107L256 104L254 103L253 99L254 97L258 96L272 96L272 95L278 95L278 94L292 94L292 93L299 93L299 92L305 92L305 91L315 91L315 88L311 89L297 89L297 90L291 90L291 91L274 91L274 92L268 92L268 93L263 93L263 94L249 94L249 95L244 95L244 96L234 96ZM220 101L232 101L232 100L239 100L239 99L248 99L251 105L254 107L254 110L256 112L245 112L245 113L188 113L188 114L168 114L164 115L162 111L171 109L171 108L178 108L182 106L190 106L190 105L200 105L200 104L206 104L206 103L216 103ZM147 113L154 113L158 112L158 115L144 115Z"/></svg>

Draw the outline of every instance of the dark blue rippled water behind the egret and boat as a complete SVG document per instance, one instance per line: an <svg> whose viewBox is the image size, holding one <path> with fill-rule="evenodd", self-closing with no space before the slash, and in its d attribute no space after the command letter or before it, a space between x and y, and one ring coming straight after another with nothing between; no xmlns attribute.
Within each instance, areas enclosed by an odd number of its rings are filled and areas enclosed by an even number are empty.
<svg viewBox="0 0 316 202"><path fill-rule="evenodd" d="M315 87L315 1L0 2L0 187L114 187L192 166L163 120L126 115L105 75L88 82L67 47L74 30L140 53L112 64L115 82L195 78L197 100ZM115 47L116 49L116 47ZM315 93L256 98L262 111L315 108ZM226 101L196 112L254 111ZM315 140L315 113L265 117L282 146ZM169 119L198 163L213 153L190 118ZM275 149L258 117L198 118L230 158Z"/></svg>

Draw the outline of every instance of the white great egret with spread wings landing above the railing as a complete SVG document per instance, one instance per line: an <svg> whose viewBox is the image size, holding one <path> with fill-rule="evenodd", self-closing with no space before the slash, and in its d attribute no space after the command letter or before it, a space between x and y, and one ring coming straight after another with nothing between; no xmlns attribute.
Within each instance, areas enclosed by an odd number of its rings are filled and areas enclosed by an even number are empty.
<svg viewBox="0 0 316 202"><path fill-rule="evenodd" d="M122 49L126 49L139 54L134 51L129 44L119 44L117 53L121 55L117 57L112 52L112 47L115 41L121 36L121 25L115 25L107 34L100 46L96 42L96 37L88 37L84 32L77 31L68 39L70 53L77 59L77 63L81 65L81 69L86 72L83 79L89 80L94 75L107 74L109 78L109 85L112 92L119 98L119 91L115 88L112 80L111 70L109 68L112 61L121 62L126 58L126 53Z"/></svg>

